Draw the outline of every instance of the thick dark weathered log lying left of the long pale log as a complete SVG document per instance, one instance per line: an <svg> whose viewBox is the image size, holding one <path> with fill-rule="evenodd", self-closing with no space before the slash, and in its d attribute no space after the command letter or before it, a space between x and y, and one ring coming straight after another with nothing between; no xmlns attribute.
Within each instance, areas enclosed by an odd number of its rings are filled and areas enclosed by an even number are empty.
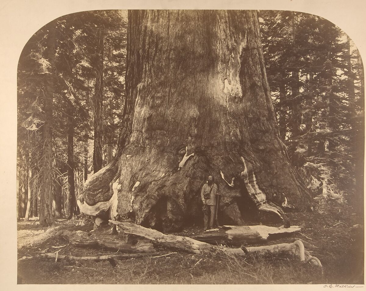
<svg viewBox="0 0 366 291"><path fill-rule="evenodd" d="M132 238L129 235L111 235L85 231L64 231L62 238L74 246L104 246L122 253L154 253L154 246L148 239Z"/></svg>

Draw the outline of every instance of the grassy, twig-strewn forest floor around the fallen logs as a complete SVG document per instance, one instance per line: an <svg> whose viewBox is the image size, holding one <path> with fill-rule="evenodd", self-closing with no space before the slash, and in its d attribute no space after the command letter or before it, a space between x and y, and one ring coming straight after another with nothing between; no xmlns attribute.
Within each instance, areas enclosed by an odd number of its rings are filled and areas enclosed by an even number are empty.
<svg viewBox="0 0 366 291"><path fill-rule="evenodd" d="M116 253L102 247L75 247L57 237L18 250L18 284L364 284L363 217L354 213L341 218L319 213L288 213L286 216L291 225L302 225L302 234L312 240L291 234L269 239L261 245L290 243L294 238L301 238L317 247L311 254L320 259L323 272L317 266L302 264L299 258L286 254L276 257L250 254L242 258L189 254L164 247L155 247L156 253L146 257L119 260L116 266L109 261L55 262L54 258L37 258L36 255L46 249L75 256ZM56 223L68 230L93 230L91 223L77 224L67 220ZM356 224L361 227L353 227ZM44 230L46 228L40 227L38 221L20 221L18 238ZM194 236L202 231L202 227L192 226L173 234ZM64 247L54 249L52 246ZM171 252L176 254L153 258Z"/></svg>

